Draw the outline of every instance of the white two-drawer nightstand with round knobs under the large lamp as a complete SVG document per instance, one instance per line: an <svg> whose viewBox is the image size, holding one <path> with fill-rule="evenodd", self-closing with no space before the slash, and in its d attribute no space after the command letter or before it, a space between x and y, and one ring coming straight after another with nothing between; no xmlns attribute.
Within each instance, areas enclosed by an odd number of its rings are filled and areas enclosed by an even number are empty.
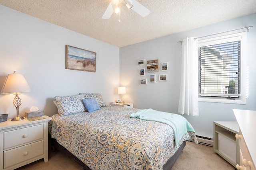
<svg viewBox="0 0 256 170"><path fill-rule="evenodd" d="M48 162L48 121L11 121L0 123L0 170L13 170L44 158Z"/></svg>

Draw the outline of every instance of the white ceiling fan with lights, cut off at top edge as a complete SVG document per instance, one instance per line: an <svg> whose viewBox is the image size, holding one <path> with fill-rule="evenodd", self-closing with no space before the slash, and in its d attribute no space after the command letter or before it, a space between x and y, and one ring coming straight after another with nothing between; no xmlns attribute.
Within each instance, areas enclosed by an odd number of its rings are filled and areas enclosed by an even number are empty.
<svg viewBox="0 0 256 170"><path fill-rule="evenodd" d="M119 4L125 3L126 7L130 10L134 10L137 12L140 16L145 17L150 13L150 10L148 10L146 7L144 7L142 4L137 2L136 0L112 0L110 4L108 5L108 8L104 12L102 19L109 19L111 15L114 13L117 14L120 11L120 8L118 7Z"/></svg>

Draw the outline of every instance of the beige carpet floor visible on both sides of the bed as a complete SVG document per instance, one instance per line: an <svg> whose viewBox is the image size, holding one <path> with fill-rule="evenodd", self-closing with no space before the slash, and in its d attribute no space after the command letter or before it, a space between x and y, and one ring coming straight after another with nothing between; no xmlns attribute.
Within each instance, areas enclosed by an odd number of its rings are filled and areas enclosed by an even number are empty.
<svg viewBox="0 0 256 170"><path fill-rule="evenodd" d="M234 166L226 162L213 151L212 147L186 142L172 170L234 170ZM58 150L49 149L49 161L38 160L22 166L17 170L81 170L81 167Z"/></svg>

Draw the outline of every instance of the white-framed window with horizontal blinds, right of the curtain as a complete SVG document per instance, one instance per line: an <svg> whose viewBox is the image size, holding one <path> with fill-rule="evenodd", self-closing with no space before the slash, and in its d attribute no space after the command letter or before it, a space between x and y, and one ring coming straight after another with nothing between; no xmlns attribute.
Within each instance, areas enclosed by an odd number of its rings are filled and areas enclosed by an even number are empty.
<svg viewBox="0 0 256 170"><path fill-rule="evenodd" d="M245 35L198 41L199 101L245 104Z"/></svg>

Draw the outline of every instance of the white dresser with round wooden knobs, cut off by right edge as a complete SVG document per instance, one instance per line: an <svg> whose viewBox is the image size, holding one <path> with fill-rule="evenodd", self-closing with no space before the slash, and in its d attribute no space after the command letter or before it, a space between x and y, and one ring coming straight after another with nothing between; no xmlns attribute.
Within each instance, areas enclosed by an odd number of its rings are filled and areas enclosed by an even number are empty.
<svg viewBox="0 0 256 170"><path fill-rule="evenodd" d="M238 170L256 170L256 111L233 109L239 125L240 164Z"/></svg>

